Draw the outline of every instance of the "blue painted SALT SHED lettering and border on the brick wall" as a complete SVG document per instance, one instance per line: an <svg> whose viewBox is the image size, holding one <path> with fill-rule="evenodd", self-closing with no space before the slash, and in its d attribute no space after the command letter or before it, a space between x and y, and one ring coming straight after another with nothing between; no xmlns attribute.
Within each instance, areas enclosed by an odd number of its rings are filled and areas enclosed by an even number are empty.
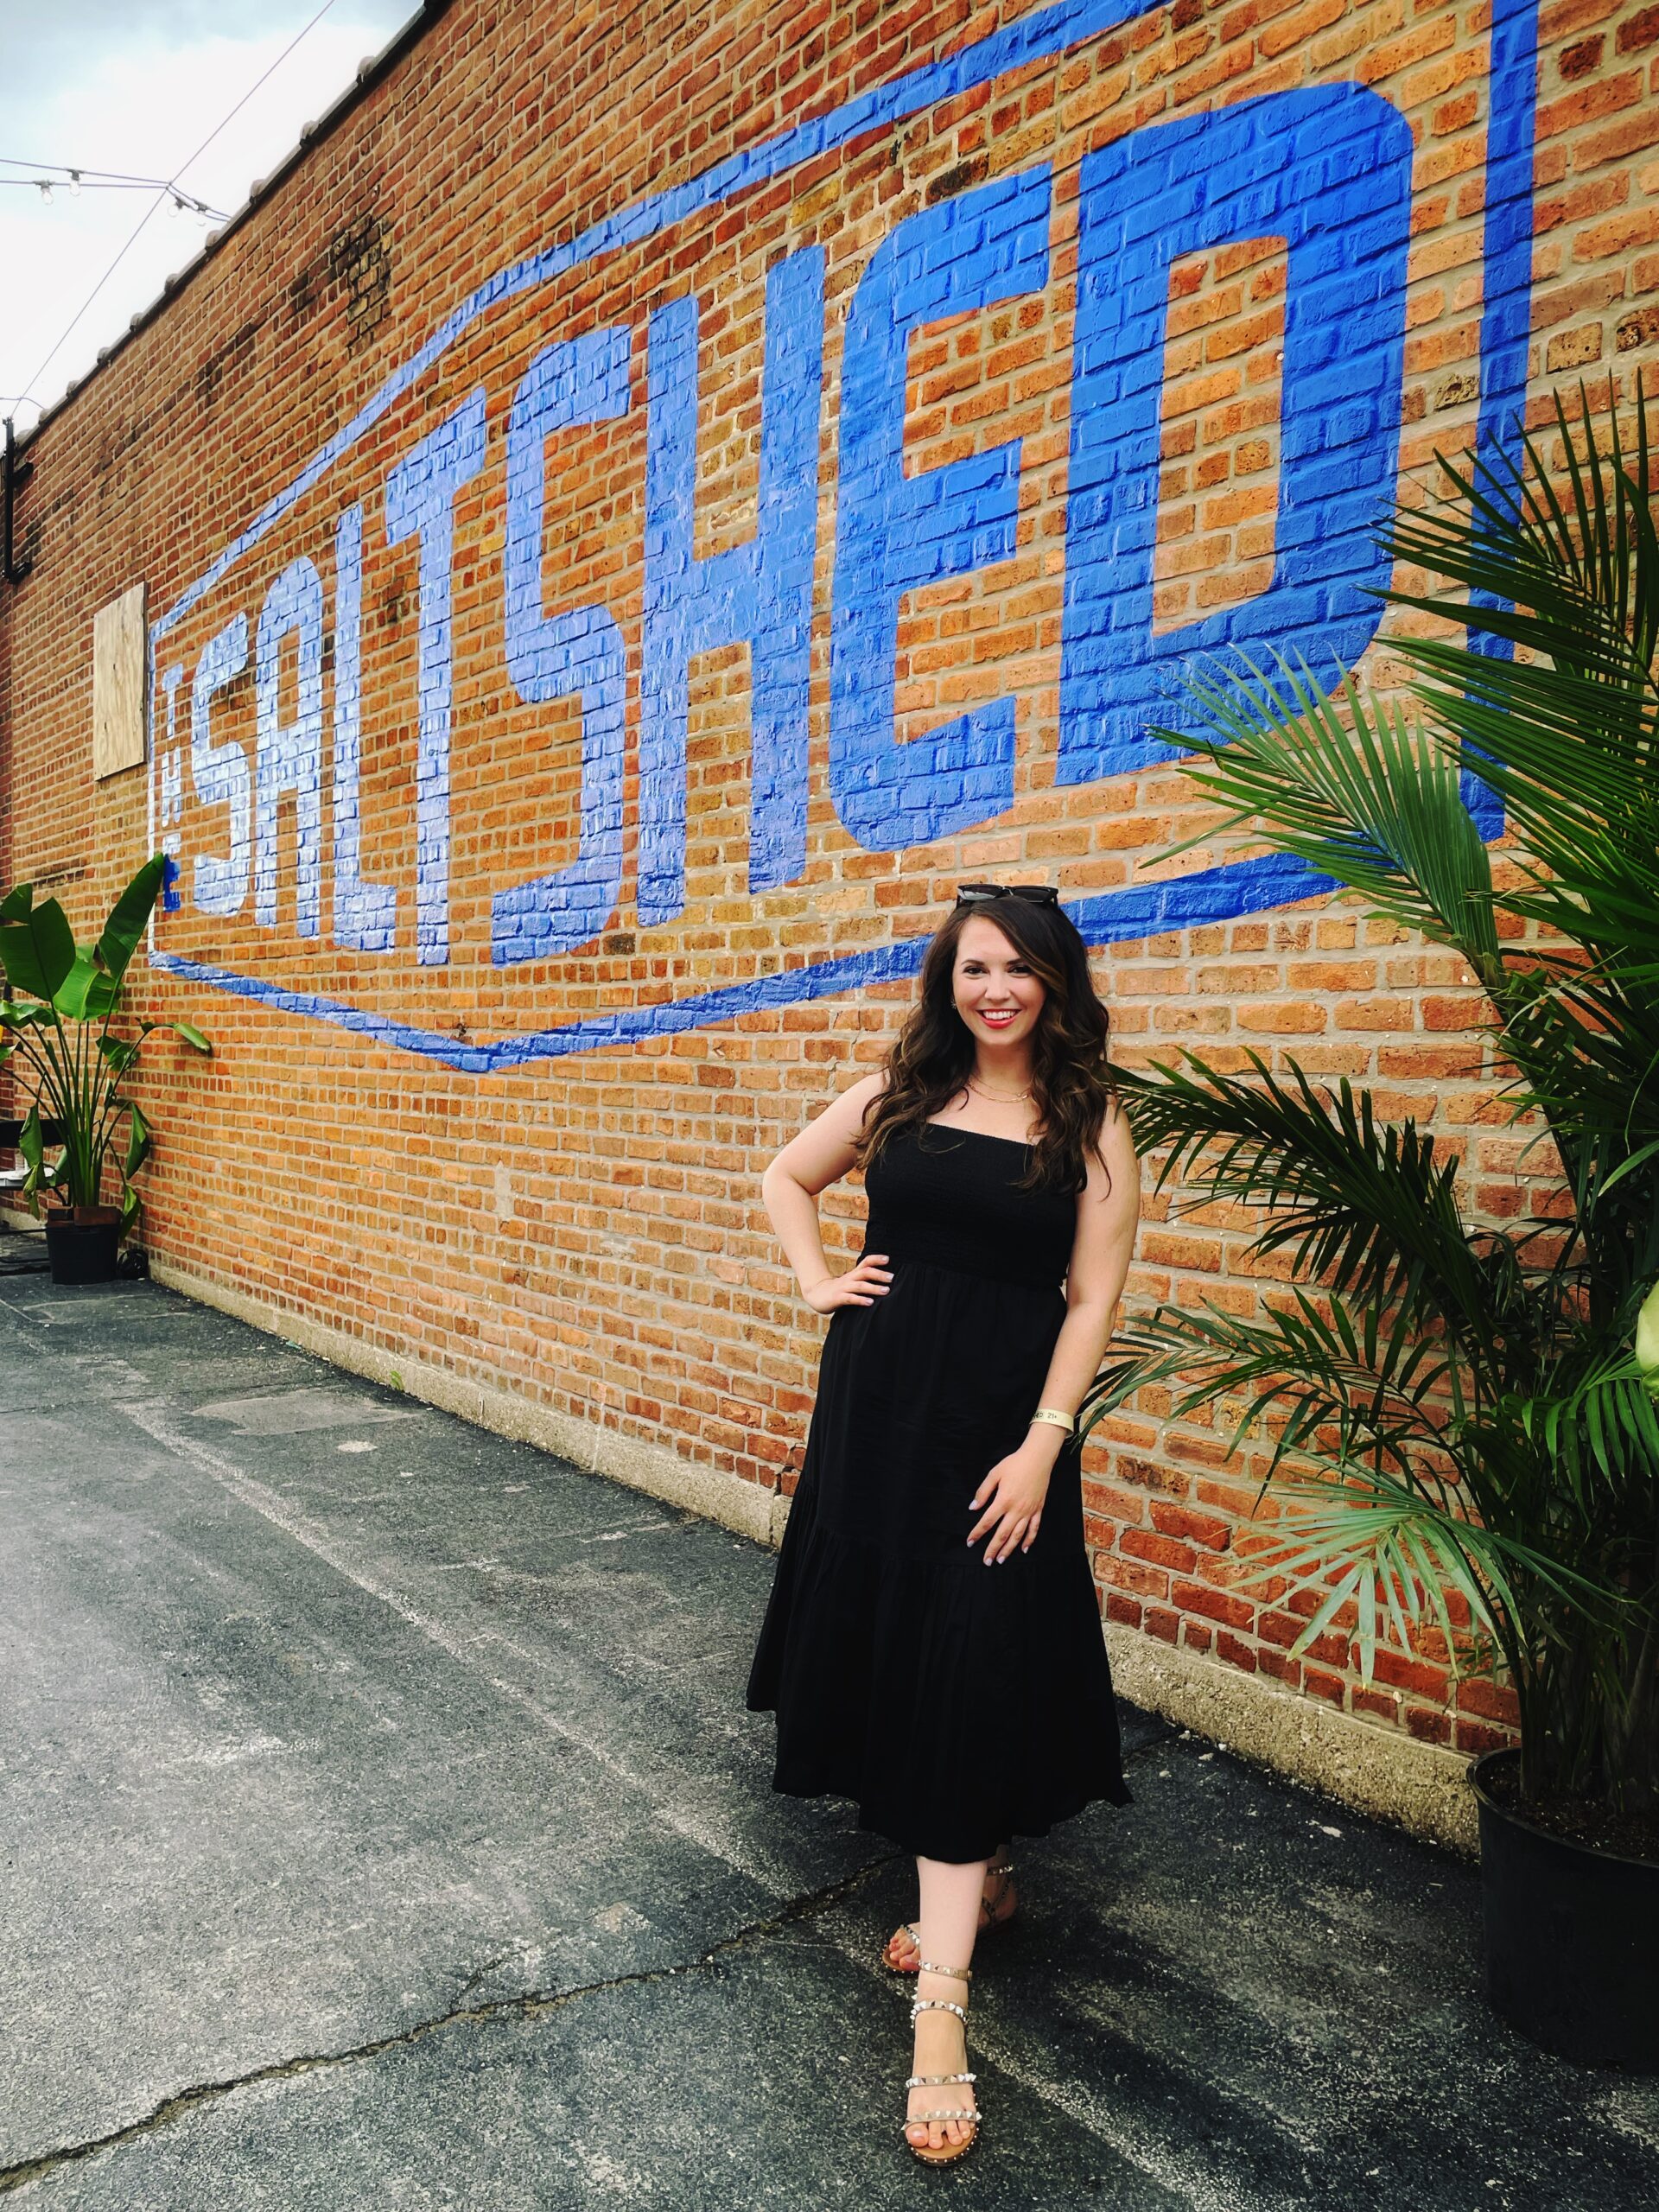
<svg viewBox="0 0 1659 2212"><path fill-rule="evenodd" d="M150 962L476 1073L914 975L925 938L498 1042L460 1040L303 987L307 945L314 960L319 940L380 958L411 947L425 969L445 969L453 953L456 502L467 487L502 504L498 622L513 697L522 706L568 701L580 723L575 858L491 894L487 938L495 969L511 973L524 962L593 949L615 927L628 827L630 688L639 732L637 920L661 927L686 909L690 661L712 648L743 646L750 659L750 894L785 887L805 872L814 622L827 626L830 648L827 796L849 838L869 852L905 852L991 825L1011 810L1015 701L991 699L900 739L896 661L907 593L1013 555L1020 440L989 442L938 467L907 467L905 378L914 332L945 316L1018 303L1048 283L1055 192L1046 166L982 181L900 219L858 272L845 312L834 422L827 606L814 604L825 434L818 246L785 252L765 272L759 502L754 533L743 544L695 553L706 305L697 290L657 305L639 327L604 327L520 356L507 434L495 447L489 394L476 387L458 396L449 387L442 418L398 453L378 487L385 544L407 546L416 562L411 889L361 872L363 502L327 513L332 604L312 557L290 557L261 580L254 555L491 310L940 100L1062 55L1135 13L1121 0L1075 0L1033 13L947 62L608 217L500 272L456 307L153 626L153 825L179 865ZM1524 398L1533 58L1535 7L1498 0L1480 356L1486 449L1506 434ZM1170 748L1146 730L1152 721L1179 728L1170 679L1190 653L1285 648L1332 670L1352 668L1374 637L1380 619L1374 591L1385 568L1371 524L1398 476L1411 150L1411 131L1387 100L1358 84L1334 84L1155 122L1082 161L1057 785L1088 785L1168 759ZM1263 237L1283 239L1287 252L1272 580L1234 606L1157 630L1152 560L1170 265L1208 246ZM622 628L599 599L555 615L544 611L551 582L544 511L560 434L628 416L639 405L633 394L641 356L644 582L639 650L630 664ZM491 489L491 471L504 476L500 491ZM215 619L215 608L232 597L243 604L234 613L226 604L223 619ZM181 657L173 657L168 641L186 635L199 635L199 646L190 655L179 644ZM250 666L252 757L241 739L217 734L215 726L215 701ZM181 714L186 684L188 714ZM290 801L292 867L279 885L279 812ZM1128 885L1071 900L1068 911L1088 942L1106 945L1263 911L1323 887L1301 865L1270 858ZM181 920L175 925L170 916ZM250 918L276 931L292 945L285 978L170 949L175 929L195 916Z"/></svg>

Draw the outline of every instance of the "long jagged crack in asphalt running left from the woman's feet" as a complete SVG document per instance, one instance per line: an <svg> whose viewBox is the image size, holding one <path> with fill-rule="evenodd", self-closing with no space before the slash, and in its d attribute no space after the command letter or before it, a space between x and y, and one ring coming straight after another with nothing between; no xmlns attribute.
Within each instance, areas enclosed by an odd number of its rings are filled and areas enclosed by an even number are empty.
<svg viewBox="0 0 1659 2212"><path fill-rule="evenodd" d="M310 2051L292 2059L270 2059L265 2066L252 2066L248 2073L230 2075L226 2081L195 2081L190 2088L170 2090L159 2104L150 2106L148 2112L139 2115L139 2119L126 2121L122 2128L111 2128L106 2135L93 2135L84 2143L60 2143L55 2150L42 2150L38 2157L22 2159L18 2166L0 2166L0 2197L31 2188L35 2181L46 2181L64 2166L93 2159L102 2150L119 2150L122 2143L133 2143L139 2137L155 2135L159 2128L168 2128L175 2119L184 2119L186 2112L192 2112L204 2104L219 2104L223 2097L234 2097L237 2090L252 2088L259 2081L288 2081L294 2075L321 2073L330 2066L354 2066L358 2059L380 2057L383 2051L398 2051L405 2044L425 2042L427 2035L438 2035L445 2028L484 2026L491 2020L544 2020L549 2013L557 2013L566 2004L575 2004L580 1997L595 1997L608 1989L628 1989L641 1982L666 1982L675 1973L703 1973L723 1951L734 1951L745 1942L774 1936L779 1929L785 1929L796 1920L807 1920L812 1913L830 1905L838 1905L841 1898L849 1896L860 1882L869 1880L869 1876L878 1874L883 1867L889 1867L896 1858L905 1858L905 1851L887 1851L885 1856L856 1867L852 1874L841 1876L841 1880L827 1882L823 1889L810 1889L799 1898L790 1898L787 1905L770 1918L750 1920L730 1936L721 1936L719 1942L712 1942L706 1951L699 1951L697 1958L675 1960L670 1966L639 1966L633 1973L606 1975L599 1982L577 1982L571 1989L529 1989L515 1997L491 1997L484 2004L456 2004L447 2013L436 2013L431 2020L416 2020L411 2026L398 2028L394 2035L376 2035L369 2042L352 2044L345 2051ZM495 1964L500 1964L500 1960ZM462 1995L487 1971L491 1969L484 1966L471 1975L462 1984Z"/></svg>

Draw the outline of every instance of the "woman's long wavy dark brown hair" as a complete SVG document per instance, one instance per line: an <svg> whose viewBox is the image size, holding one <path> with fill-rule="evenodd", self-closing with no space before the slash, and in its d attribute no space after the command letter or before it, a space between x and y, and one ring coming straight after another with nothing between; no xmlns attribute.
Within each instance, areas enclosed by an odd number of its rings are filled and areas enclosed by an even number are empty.
<svg viewBox="0 0 1659 2212"><path fill-rule="evenodd" d="M1088 1181L1088 1155L1102 1159L1099 1130L1115 1097L1106 1060L1110 1015L1095 993L1077 925L1060 905L1026 898L953 907L938 929L922 958L920 1000L887 1053L887 1088L865 1108L854 1166L867 1168L900 1130L931 1121L973 1073L973 1037L956 1011L951 978L958 938L975 914L995 922L1046 991L1031 1035L1031 1097L1042 1137L1020 1188L1077 1192Z"/></svg>

